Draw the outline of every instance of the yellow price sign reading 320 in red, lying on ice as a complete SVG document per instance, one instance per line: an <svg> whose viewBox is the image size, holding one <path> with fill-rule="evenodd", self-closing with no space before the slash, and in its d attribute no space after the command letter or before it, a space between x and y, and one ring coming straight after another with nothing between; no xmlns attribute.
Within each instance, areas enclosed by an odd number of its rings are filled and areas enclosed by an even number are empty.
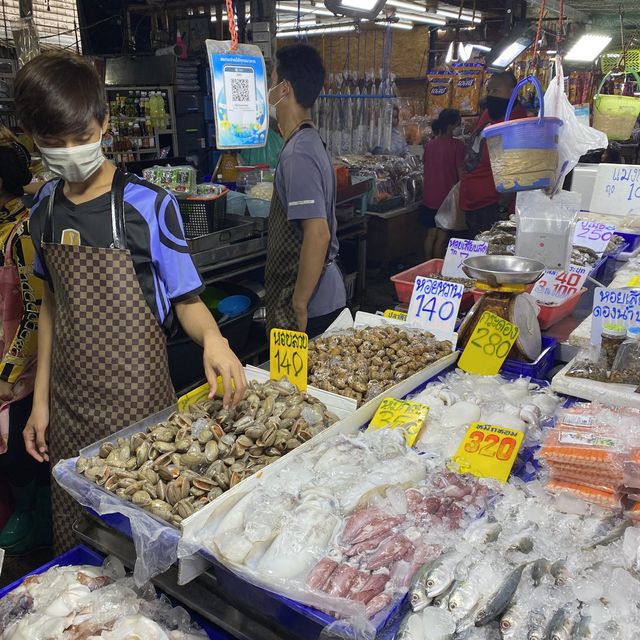
<svg viewBox="0 0 640 640"><path fill-rule="evenodd" d="M453 467L458 473L506 482L523 438L516 429L474 422L452 460Z"/></svg>

